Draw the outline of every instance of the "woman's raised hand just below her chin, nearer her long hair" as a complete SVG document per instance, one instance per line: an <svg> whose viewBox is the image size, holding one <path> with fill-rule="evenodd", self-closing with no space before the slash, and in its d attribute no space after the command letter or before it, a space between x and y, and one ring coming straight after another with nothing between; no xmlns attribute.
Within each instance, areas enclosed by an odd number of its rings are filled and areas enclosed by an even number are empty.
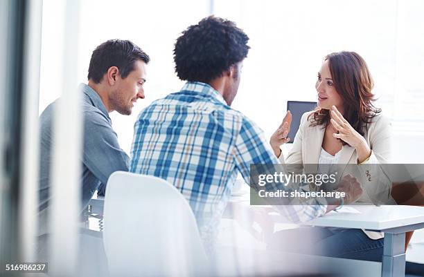
<svg viewBox="0 0 424 277"><path fill-rule="evenodd" d="M360 164L364 162L370 155L371 149L369 148L366 140L344 119L343 115L337 110L335 106L331 108L331 124L338 131L333 133L333 137L343 140L352 147L355 147L357 153L357 162Z"/></svg>

